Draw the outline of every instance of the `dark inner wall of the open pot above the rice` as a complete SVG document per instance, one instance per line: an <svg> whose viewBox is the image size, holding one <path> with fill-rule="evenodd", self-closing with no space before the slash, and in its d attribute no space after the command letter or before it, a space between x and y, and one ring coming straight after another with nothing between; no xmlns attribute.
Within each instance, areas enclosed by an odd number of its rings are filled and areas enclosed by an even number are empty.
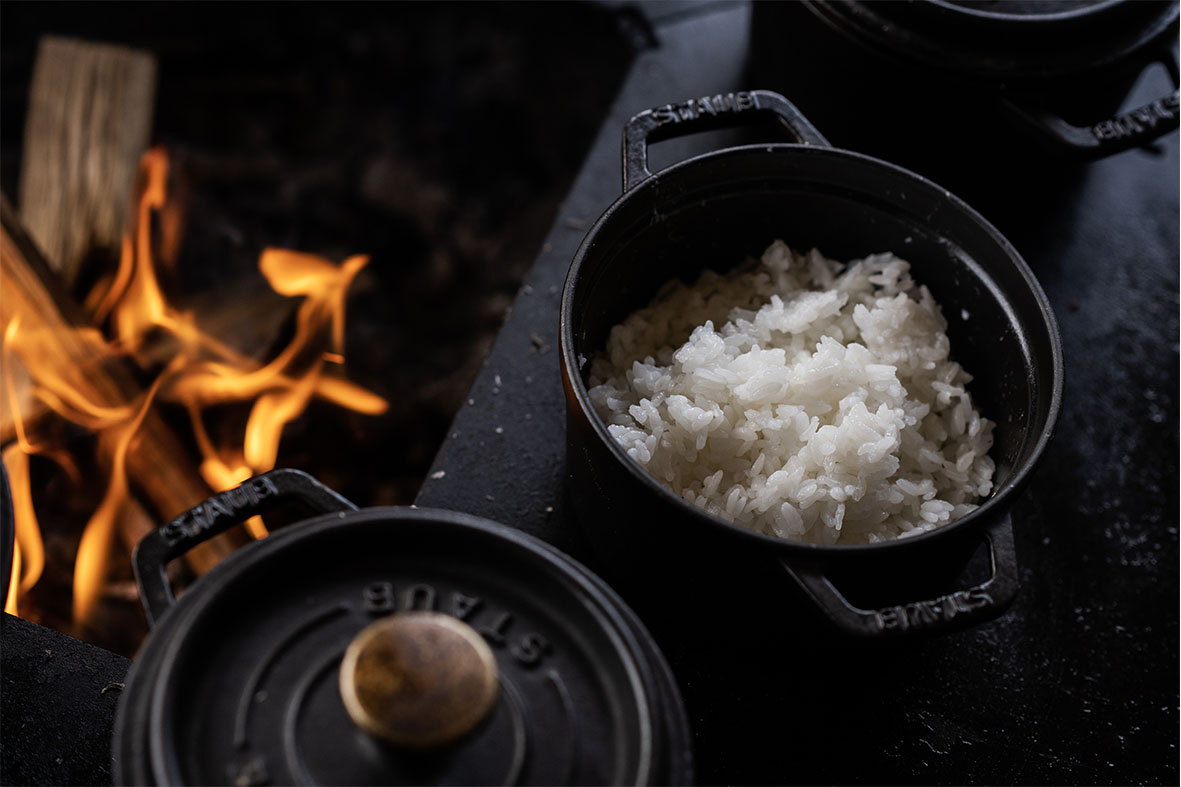
<svg viewBox="0 0 1181 787"><path fill-rule="evenodd" d="M733 268L775 239L842 261L877 252L911 261L912 275L942 306L952 357L974 376L978 409L997 422L997 490L1012 483L1052 398L1055 343L1036 285L994 230L942 189L873 160L798 147L731 149L641 184L580 252L575 357L593 357L611 327L670 279ZM585 383L589 364L579 363Z"/></svg>

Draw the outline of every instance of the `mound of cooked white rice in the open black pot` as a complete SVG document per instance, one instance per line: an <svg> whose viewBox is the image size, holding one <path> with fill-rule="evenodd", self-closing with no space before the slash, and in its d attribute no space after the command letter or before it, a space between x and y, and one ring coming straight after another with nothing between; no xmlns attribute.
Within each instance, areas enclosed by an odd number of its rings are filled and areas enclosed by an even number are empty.
<svg viewBox="0 0 1181 787"><path fill-rule="evenodd" d="M657 480L752 531L864 544L946 525L992 489L993 423L909 267L775 241L670 282L612 329L590 401Z"/></svg>

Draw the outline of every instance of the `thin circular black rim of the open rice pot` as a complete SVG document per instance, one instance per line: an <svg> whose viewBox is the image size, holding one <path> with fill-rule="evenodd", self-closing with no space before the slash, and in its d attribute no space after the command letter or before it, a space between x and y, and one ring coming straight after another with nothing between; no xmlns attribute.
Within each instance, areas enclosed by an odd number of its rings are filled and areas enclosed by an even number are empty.
<svg viewBox="0 0 1181 787"><path fill-rule="evenodd" d="M947 201L953 210L957 210L973 221L979 226L990 238L990 240L997 243L1005 253L1005 256L1013 264L1017 273L1025 281L1029 287L1030 293L1033 295L1035 301L1038 305L1038 312L1045 320L1045 327L1050 338L1050 362L1052 365L1051 379L1050 379L1050 404L1046 412L1045 428L1038 436L1037 441L1030 449L1029 456L1016 468L1012 476L1007 480L1004 489L999 493L994 493L987 500L980 503L979 508L972 510L971 513L961 516L960 519L948 522L947 525L937 527L933 531L920 533L918 535L911 535L905 538L896 538L889 541L879 541L875 544L848 544L848 545L823 545L823 544L809 544L804 541L794 541L779 536L765 535L763 533L756 533L750 531L742 525L730 522L720 516L711 514L703 508L699 508L690 502L686 502L680 496L673 494L667 487L661 484L657 479L642 468L638 462L632 460L624 449L615 442L615 440L607 431L606 424L595 412L594 406L590 403L588 389L582 379L581 370L579 369L579 363L576 359L576 353L574 352L574 326L572 314L574 311L574 291L576 286L576 280L579 273L582 269L582 265L592 253L592 248L595 245L596 236L602 232L603 227L614 220L615 214L622 209L624 204L632 200L644 199L648 194L657 191L661 186L663 181L668 177L679 177L686 170L692 170L703 165L704 163L716 162L722 158L732 156L749 156L749 155L810 155L810 156L828 156L834 160L854 160L862 164L869 164L870 167L876 167L881 169L889 170L894 176L901 177L909 181L913 186L938 191L941 194L942 199ZM999 285L994 288L997 294L1000 297L1001 303L1009 306L1009 295L1000 290ZM816 147L809 144L796 144L796 143L763 143L763 144L750 144L750 145L737 145L731 148L723 148L719 150L713 150L710 152L700 154L685 161L678 162L659 173L645 178L640 183L635 184L633 188L628 189L621 194L612 204L599 216L599 219L592 225L587 230L586 236L579 245L578 251L570 262L569 271L566 275L566 282L562 287L562 300L561 300L561 313L559 320L559 347L561 353L562 364L562 377L565 378L567 389L573 394L574 399L578 402L579 409L582 411L583 417L590 423L590 427L599 438L600 442L606 444L607 450L612 454L614 460L621 463L626 470L632 475L633 479L647 487L653 494L660 496L666 502L676 506L677 510L685 516L702 521L711 527L722 528L722 532L727 532L729 534L745 540L753 546L770 547L781 552L787 552L796 558L803 560L810 560L815 562L829 561L831 559L841 559L846 555L848 557L885 557L886 554L898 554L905 549L915 549L921 546L929 546L937 539L954 538L954 534L966 534L968 532L974 532L980 527L987 525L996 516L1000 515L1005 508L1011 503L1018 493L1023 489L1025 483L1029 481L1029 476L1033 468L1037 466L1046 445L1050 443L1050 438L1053 435L1055 425L1058 421L1058 415L1062 406L1062 390L1063 390L1063 377L1064 377L1064 364L1062 355L1062 337L1058 332L1058 323L1053 316L1053 311L1050 307L1050 303L1045 297L1040 285L1037 282L1037 278L1030 269L1029 265L1020 256L1017 249L1005 239L1000 232L993 227L984 216L977 213L971 206L957 197L954 194L947 189L938 186L933 181L913 173L908 169L892 164L889 162L875 158L873 156L867 156L864 154L859 154L852 150L843 150L840 148L831 147Z"/></svg>

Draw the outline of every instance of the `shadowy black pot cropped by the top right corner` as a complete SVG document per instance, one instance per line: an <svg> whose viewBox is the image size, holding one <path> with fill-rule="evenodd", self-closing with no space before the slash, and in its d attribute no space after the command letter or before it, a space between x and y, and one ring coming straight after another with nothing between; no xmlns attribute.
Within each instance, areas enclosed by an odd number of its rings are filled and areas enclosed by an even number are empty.
<svg viewBox="0 0 1181 787"><path fill-rule="evenodd" d="M1175 0L756 2L749 77L1020 239L1089 160L1175 134L1176 31Z"/></svg>

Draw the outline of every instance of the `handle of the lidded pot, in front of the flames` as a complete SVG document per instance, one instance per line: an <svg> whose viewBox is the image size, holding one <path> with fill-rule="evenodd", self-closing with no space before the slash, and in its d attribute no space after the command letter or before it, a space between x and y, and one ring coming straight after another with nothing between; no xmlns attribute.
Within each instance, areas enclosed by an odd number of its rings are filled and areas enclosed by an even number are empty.
<svg viewBox="0 0 1181 787"><path fill-rule="evenodd" d="M317 514L357 510L357 506L302 470L270 470L197 503L152 531L132 555L139 599L148 624L156 625L176 604L164 567L193 547L285 502L300 502Z"/></svg>

